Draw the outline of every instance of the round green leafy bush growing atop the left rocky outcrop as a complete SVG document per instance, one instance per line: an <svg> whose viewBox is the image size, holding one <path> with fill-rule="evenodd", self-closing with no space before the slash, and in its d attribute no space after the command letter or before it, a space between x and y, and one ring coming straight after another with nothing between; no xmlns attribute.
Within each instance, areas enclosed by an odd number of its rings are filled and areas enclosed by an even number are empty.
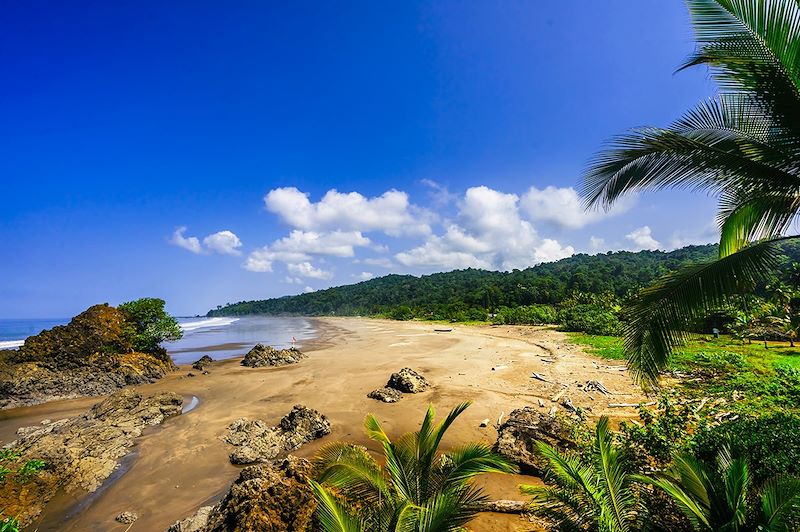
<svg viewBox="0 0 800 532"><path fill-rule="evenodd" d="M177 320L164 310L164 303L163 299L145 297L117 307L126 316L128 334L136 351L159 352L161 342L183 336Z"/></svg>

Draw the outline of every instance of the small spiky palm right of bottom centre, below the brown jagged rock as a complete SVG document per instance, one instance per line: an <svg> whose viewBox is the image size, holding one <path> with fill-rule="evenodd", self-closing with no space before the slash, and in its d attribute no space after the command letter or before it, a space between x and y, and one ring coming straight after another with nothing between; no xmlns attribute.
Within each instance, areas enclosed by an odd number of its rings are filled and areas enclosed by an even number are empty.
<svg viewBox="0 0 800 532"><path fill-rule="evenodd" d="M595 429L591 460L574 453L561 453L544 442L536 442L539 454L548 462L548 478L555 485L522 485L533 495L536 513L552 519L559 530L641 530L644 508L633 488L621 451L613 444L608 418Z"/></svg>

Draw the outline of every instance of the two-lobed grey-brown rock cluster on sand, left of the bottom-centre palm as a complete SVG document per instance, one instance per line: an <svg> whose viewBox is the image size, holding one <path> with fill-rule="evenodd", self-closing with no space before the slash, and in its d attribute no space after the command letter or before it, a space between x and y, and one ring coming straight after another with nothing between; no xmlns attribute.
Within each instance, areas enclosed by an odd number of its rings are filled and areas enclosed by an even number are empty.
<svg viewBox="0 0 800 532"><path fill-rule="evenodd" d="M229 456L231 463L252 464L299 449L330 431L331 424L325 416L312 408L295 405L277 427L270 427L260 419L240 418L228 425L222 439L235 447Z"/></svg>

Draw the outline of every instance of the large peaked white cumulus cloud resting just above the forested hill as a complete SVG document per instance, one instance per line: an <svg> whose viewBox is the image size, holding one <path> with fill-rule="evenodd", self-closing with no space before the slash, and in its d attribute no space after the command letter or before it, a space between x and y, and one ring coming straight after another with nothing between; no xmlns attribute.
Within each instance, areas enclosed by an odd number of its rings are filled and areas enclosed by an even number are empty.
<svg viewBox="0 0 800 532"><path fill-rule="evenodd" d="M466 191L457 221L445 233L398 253L405 266L422 268L527 268L575 252L557 240L541 238L519 214L519 197L486 186Z"/></svg>

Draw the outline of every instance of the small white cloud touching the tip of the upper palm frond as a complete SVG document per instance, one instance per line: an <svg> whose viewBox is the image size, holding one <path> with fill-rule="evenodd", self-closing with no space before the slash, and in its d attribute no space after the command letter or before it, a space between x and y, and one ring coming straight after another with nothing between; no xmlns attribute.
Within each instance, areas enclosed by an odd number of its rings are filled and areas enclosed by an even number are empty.
<svg viewBox="0 0 800 532"><path fill-rule="evenodd" d="M520 207L532 221L541 221L566 229L580 229L629 210L636 203L633 196L625 196L608 210L584 209L578 192L572 187L531 187L520 199Z"/></svg>

